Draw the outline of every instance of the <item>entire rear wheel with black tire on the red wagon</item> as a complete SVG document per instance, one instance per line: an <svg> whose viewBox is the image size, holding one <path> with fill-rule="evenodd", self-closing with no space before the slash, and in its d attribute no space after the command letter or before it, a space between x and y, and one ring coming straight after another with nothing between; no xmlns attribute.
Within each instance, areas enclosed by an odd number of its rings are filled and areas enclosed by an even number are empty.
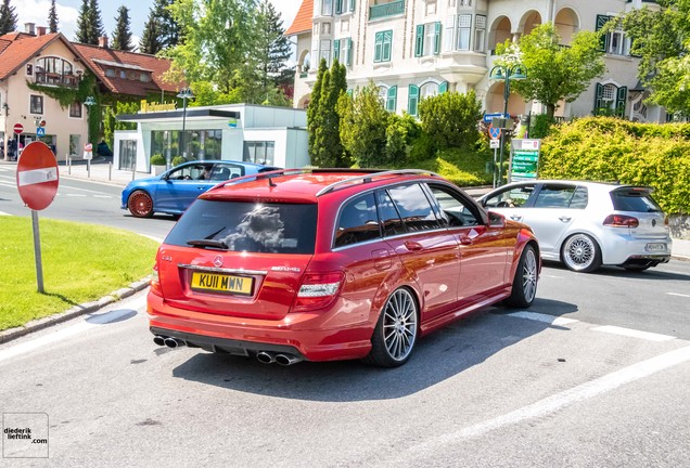
<svg viewBox="0 0 690 468"><path fill-rule="evenodd" d="M386 300L371 337L371 351L362 361L379 367L405 364L417 343L419 308L407 288L396 289Z"/></svg>

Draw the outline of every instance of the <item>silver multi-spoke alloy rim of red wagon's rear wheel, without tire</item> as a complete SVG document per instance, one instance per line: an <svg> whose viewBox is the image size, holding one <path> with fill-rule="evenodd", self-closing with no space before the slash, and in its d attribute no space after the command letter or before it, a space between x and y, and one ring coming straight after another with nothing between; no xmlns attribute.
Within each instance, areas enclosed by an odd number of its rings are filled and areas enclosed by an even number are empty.
<svg viewBox="0 0 690 468"><path fill-rule="evenodd" d="M407 289L398 289L383 309L383 339L388 355L404 361L417 340L417 303Z"/></svg>

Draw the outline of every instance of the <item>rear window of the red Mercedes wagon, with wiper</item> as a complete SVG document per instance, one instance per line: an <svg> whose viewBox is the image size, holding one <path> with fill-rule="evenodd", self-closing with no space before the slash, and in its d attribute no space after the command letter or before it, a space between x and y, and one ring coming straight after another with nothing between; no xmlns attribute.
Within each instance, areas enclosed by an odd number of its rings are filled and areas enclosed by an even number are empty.
<svg viewBox="0 0 690 468"><path fill-rule="evenodd" d="M315 204L276 204L199 199L165 239L246 252L314 253ZM216 245L213 245L213 244Z"/></svg>

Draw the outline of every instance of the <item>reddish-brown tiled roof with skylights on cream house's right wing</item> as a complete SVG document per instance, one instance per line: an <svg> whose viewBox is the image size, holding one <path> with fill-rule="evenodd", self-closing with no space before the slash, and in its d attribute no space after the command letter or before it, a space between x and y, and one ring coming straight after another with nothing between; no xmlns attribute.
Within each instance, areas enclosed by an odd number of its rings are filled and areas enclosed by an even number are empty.
<svg viewBox="0 0 690 468"><path fill-rule="evenodd" d="M124 52L119 50L73 43L89 68L105 84L110 92L145 96L149 93L166 91L177 92L183 83L168 83L163 81L163 74L170 68L168 58L159 58L154 55ZM114 69L115 77L105 75L107 68ZM126 79L119 77L120 70L151 72L152 81Z"/></svg>

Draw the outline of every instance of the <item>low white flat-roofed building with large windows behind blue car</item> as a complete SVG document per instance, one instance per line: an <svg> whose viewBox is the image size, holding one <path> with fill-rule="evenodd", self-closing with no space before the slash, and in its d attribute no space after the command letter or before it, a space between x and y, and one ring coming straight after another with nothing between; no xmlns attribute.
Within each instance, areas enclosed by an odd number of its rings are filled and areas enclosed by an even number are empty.
<svg viewBox="0 0 690 468"><path fill-rule="evenodd" d="M137 130L115 132L113 164L117 169L129 170L133 164L138 172L150 172L153 154L171 160L177 147L186 147L188 151L179 154L197 160L250 160L284 168L309 165L307 116L303 109L231 104L139 113L118 119L138 126Z"/></svg>

